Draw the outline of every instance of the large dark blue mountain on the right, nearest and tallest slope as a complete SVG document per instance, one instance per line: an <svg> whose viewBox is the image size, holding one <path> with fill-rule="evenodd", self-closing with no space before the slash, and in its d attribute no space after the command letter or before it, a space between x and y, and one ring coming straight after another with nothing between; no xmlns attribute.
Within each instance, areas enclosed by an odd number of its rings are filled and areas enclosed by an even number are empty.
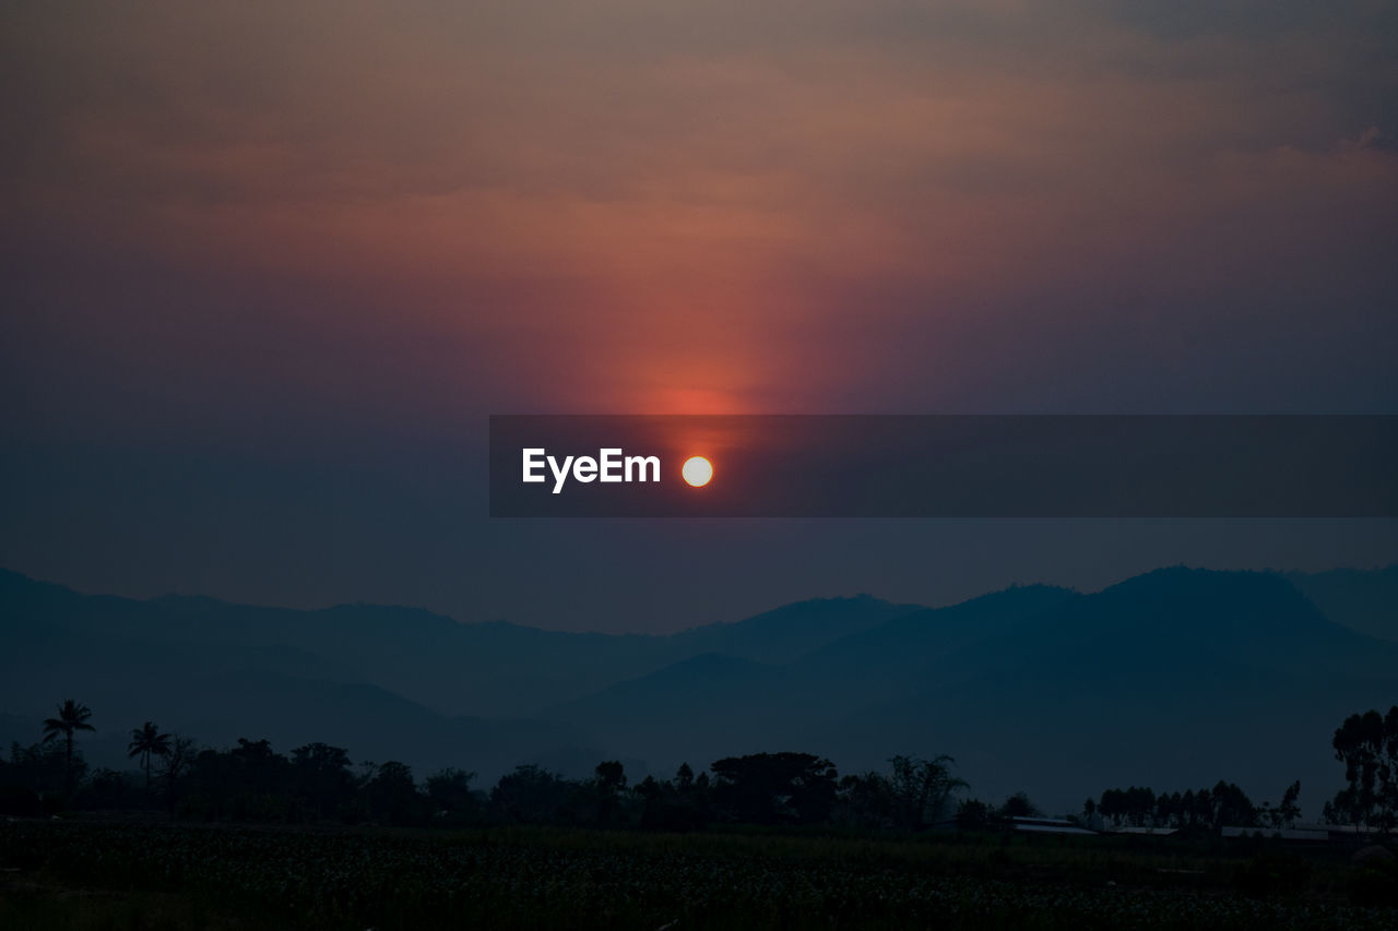
<svg viewBox="0 0 1398 931"><path fill-rule="evenodd" d="M951 752L979 793L1054 805L1083 786L1225 774L1264 797L1300 777L1314 801L1339 781L1339 720L1395 695L1398 646L1332 623L1286 580L1165 569L907 614L774 668L672 667L555 714L671 762L781 744L849 770Z"/></svg>

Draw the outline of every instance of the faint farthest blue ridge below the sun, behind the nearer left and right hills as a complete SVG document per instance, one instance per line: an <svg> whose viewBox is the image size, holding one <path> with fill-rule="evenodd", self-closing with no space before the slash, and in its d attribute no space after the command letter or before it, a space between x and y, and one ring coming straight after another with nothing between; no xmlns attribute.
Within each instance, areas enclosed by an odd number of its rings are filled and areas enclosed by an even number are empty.
<svg viewBox="0 0 1398 931"><path fill-rule="evenodd" d="M256 668L288 670L289 663L306 675L370 682L445 714L477 716L533 714L706 651L790 658L916 609L870 597L822 598L663 637L459 623L421 608L383 605L289 611L185 596L134 601L84 596L10 572L0 577L0 600L15 621L217 650Z"/></svg>

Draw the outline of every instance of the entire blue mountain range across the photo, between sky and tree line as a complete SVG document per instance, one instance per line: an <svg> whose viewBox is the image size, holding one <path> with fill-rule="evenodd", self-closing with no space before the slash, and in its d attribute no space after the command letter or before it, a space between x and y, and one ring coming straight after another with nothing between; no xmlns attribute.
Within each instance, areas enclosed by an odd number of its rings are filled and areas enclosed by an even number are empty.
<svg viewBox="0 0 1398 931"><path fill-rule="evenodd" d="M1028 788L1053 804L1219 777L1267 795L1300 777L1316 801L1339 780L1339 720L1398 700L1398 643L1318 604L1376 629L1391 573L1174 568L1092 594L1023 586L944 608L821 598L643 636L417 608L134 601L0 570L0 728L24 731L73 696L94 707L85 746L102 765L124 765L119 738L154 719L215 744L324 739L419 776L586 772L603 758L672 772L763 749L850 772L949 752L983 795ZM36 737L36 724L0 734Z"/></svg>

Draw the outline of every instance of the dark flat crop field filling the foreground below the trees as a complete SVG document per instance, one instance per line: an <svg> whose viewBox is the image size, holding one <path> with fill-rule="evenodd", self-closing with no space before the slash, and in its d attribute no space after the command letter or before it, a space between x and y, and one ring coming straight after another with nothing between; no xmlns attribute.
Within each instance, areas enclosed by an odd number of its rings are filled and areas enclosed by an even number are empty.
<svg viewBox="0 0 1398 931"><path fill-rule="evenodd" d="M0 823L3 928L1384 928L1353 850L1165 839Z"/></svg>

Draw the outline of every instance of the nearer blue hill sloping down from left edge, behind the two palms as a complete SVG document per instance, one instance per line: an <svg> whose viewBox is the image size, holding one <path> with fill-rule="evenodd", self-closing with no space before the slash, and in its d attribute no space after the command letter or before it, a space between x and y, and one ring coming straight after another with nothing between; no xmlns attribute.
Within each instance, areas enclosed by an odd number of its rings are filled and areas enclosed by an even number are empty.
<svg viewBox="0 0 1398 931"><path fill-rule="evenodd" d="M287 751L326 741L361 759L432 769L464 758L485 770L507 769L579 742L555 724L440 714L376 685L337 678L343 670L316 653L245 643L226 629L200 630L199 615L165 616L169 600L92 598L14 577L0 580L0 637L17 660L0 677L0 709L25 710L29 721L25 737L17 732L18 716L8 714L7 735L36 741L39 719L57 700L78 696L95 712L98 734L87 741L94 765L122 765L130 728L147 719L208 744L267 737ZM194 601L215 616L233 608Z"/></svg>

